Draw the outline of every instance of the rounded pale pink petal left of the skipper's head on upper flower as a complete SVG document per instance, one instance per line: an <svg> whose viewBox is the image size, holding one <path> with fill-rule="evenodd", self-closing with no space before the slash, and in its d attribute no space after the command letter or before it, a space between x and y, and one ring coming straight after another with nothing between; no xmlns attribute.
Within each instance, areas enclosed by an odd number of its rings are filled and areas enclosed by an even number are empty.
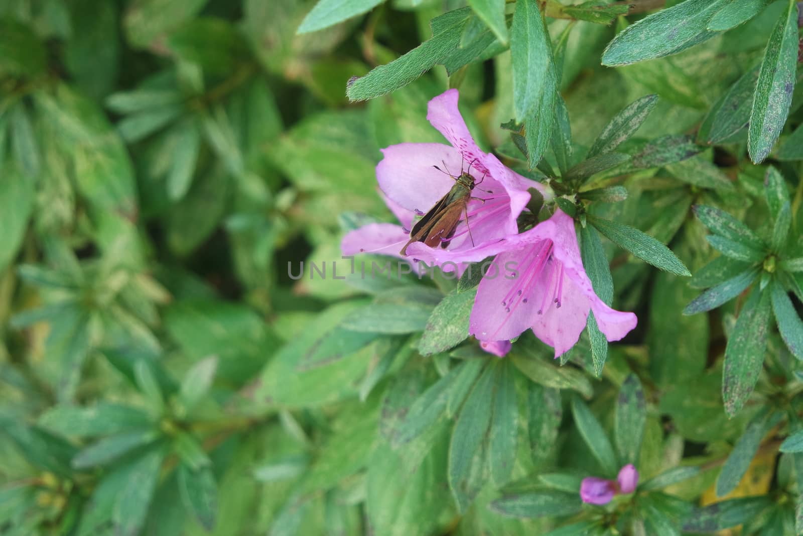
<svg viewBox="0 0 803 536"><path fill-rule="evenodd" d="M400 143L382 149L377 164L379 187L399 207L426 212L454 186L454 179L432 166L458 173L460 153L440 143ZM445 170L444 170L445 171Z"/></svg>

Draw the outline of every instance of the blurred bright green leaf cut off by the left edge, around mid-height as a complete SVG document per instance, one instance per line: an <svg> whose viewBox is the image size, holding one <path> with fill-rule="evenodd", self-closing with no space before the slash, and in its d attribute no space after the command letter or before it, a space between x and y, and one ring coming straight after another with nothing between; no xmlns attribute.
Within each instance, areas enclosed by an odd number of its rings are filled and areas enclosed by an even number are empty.
<svg viewBox="0 0 803 536"><path fill-rule="evenodd" d="M33 178L23 177L17 166L3 166L0 180L0 272L14 260L34 208Z"/></svg>

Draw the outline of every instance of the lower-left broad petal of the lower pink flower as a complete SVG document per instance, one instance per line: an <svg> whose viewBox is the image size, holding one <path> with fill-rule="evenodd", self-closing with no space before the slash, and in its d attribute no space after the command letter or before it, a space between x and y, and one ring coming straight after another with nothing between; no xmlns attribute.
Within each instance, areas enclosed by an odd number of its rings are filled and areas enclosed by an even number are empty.
<svg viewBox="0 0 803 536"><path fill-rule="evenodd" d="M487 273L479 282L474 307L469 317L468 333L480 341L501 341L518 337L524 330L532 326L536 310L532 301L519 299L516 291L522 281L520 277L513 277L505 265L521 266L524 263L527 250L517 249L512 252L499 254L488 268ZM512 263L512 264L508 264ZM503 304L509 294L516 296L511 307L507 302ZM508 310L509 309L509 310Z"/></svg>

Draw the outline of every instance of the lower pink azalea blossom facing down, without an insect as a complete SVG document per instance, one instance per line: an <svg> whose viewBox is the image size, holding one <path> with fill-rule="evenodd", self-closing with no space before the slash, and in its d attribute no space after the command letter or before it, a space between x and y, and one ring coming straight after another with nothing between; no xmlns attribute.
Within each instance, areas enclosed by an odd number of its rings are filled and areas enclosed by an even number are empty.
<svg viewBox="0 0 803 536"><path fill-rule="evenodd" d="M496 255L471 309L469 333L480 341L509 340L532 329L558 357L577 343L589 311L608 341L618 341L636 327L634 313L611 309L594 292L583 268L574 220L560 209L520 235L470 253L460 258L479 261ZM435 255L438 263L456 258L452 252ZM491 276L491 271L499 272Z"/></svg>

